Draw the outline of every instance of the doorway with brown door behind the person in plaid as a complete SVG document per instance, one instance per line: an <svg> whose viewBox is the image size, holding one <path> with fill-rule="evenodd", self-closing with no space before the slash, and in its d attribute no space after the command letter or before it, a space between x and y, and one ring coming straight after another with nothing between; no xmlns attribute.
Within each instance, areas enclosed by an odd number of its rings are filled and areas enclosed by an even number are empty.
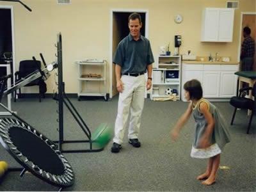
<svg viewBox="0 0 256 192"><path fill-rule="evenodd" d="M241 29L240 29L240 39L239 39L240 43L239 43L238 56L240 56L241 44L244 40L244 37L243 37L244 27L247 26L251 29L251 36L255 40L255 44L256 44L256 25L255 24L256 24L256 12L241 12ZM240 60L240 58L238 60ZM253 71L256 71L256 52L254 54Z"/></svg>

